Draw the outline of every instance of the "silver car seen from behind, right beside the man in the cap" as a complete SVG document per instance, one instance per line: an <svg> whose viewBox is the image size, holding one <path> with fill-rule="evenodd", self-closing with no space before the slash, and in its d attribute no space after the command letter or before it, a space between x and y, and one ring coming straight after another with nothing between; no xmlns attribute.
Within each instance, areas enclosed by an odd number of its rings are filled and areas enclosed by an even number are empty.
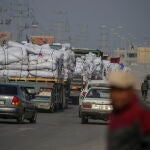
<svg viewBox="0 0 150 150"><path fill-rule="evenodd" d="M88 123L88 119L108 121L111 111L110 88L92 87L82 100L81 123Z"/></svg>

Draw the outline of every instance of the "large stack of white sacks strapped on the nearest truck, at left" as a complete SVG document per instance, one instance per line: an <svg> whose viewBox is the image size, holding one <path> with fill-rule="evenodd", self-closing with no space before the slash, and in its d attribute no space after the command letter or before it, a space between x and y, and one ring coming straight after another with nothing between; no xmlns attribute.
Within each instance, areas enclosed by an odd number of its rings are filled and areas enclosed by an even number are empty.
<svg viewBox="0 0 150 150"><path fill-rule="evenodd" d="M0 76L68 78L74 71L74 61L68 45L54 50L48 44L9 41L0 47Z"/></svg>

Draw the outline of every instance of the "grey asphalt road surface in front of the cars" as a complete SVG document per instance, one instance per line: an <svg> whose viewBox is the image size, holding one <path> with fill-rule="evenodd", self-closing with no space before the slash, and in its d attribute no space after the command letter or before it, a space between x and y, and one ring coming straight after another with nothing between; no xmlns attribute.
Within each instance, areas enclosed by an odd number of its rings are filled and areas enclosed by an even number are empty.
<svg viewBox="0 0 150 150"><path fill-rule="evenodd" d="M0 120L1 150L104 150L107 125L80 124L77 107L64 112L39 113L37 124Z"/></svg>

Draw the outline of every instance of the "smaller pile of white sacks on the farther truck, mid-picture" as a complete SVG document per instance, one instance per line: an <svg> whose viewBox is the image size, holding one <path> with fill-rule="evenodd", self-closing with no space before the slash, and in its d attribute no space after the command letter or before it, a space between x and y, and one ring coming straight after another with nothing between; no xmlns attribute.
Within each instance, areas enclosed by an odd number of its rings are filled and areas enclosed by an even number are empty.
<svg viewBox="0 0 150 150"><path fill-rule="evenodd" d="M120 69L119 64L111 63L108 60L102 61L101 57L96 57L92 53L85 55L85 57L76 58L75 74L82 75L85 80L91 78L105 79L109 72Z"/></svg>

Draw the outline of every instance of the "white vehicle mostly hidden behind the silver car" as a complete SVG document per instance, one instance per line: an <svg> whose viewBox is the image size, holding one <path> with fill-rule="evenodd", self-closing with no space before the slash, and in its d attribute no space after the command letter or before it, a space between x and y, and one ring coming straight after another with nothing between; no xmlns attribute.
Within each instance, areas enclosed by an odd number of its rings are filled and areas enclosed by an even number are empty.
<svg viewBox="0 0 150 150"><path fill-rule="evenodd" d="M88 90L91 87L109 87L109 84L106 80L89 80L85 84L85 88L81 91L79 96L79 117L80 117L80 108L82 105L82 100L84 99L85 95L87 94Z"/></svg>

